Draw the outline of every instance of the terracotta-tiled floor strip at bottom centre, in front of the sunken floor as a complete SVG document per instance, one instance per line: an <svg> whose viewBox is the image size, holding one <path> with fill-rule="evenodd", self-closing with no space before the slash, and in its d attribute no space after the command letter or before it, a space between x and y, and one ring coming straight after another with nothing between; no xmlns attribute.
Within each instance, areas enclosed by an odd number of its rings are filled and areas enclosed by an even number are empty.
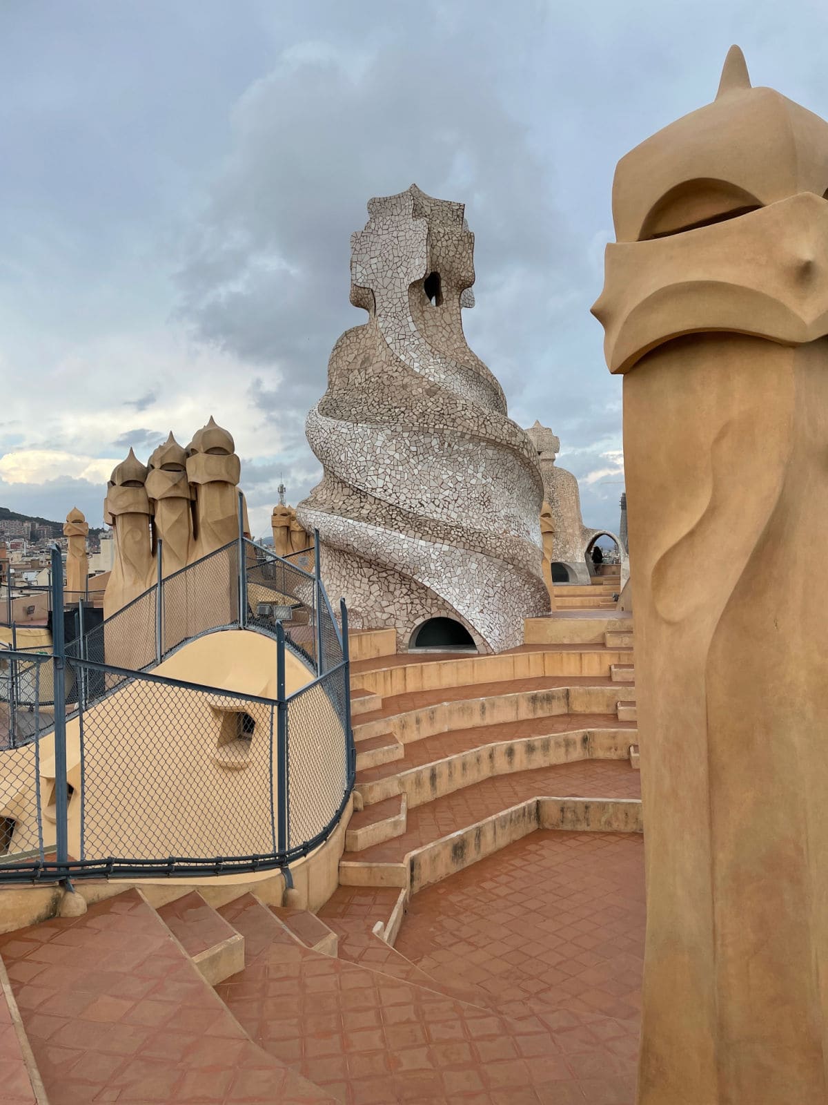
<svg viewBox="0 0 828 1105"><path fill-rule="evenodd" d="M550 1010L561 1043L541 1017L516 1027L490 1009L310 951L253 898L221 913L244 934L246 966L219 994L264 1049L348 1105L628 1101L617 1094L631 1085L633 1061L611 1046L628 1029L614 1019Z"/></svg>

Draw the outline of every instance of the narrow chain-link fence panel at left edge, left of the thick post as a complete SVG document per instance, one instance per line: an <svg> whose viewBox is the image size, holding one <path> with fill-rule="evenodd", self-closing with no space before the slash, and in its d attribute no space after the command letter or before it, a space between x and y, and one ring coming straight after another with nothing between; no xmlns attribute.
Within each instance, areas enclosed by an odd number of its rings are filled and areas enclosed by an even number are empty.
<svg viewBox="0 0 828 1105"><path fill-rule="evenodd" d="M45 655L8 653L0 659L6 691L0 704L0 881L6 870L43 861L41 790L47 791L49 802L54 779L41 772L41 743L54 715L42 708L41 699L53 697L52 669L52 657ZM52 751L45 749L45 757Z"/></svg>

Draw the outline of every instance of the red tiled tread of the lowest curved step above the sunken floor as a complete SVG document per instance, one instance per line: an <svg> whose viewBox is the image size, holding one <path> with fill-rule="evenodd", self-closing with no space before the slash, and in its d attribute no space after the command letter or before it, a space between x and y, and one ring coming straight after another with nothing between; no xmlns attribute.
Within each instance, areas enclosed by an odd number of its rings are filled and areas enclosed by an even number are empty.
<svg viewBox="0 0 828 1105"><path fill-rule="evenodd" d="M410 809L406 830L402 836L360 852L346 852L342 859L402 862L408 852L529 798L563 798L570 794L578 798L640 798L640 774L634 771L627 760L577 760L534 771L496 776L425 806ZM477 869L478 865L475 865L471 870Z"/></svg>

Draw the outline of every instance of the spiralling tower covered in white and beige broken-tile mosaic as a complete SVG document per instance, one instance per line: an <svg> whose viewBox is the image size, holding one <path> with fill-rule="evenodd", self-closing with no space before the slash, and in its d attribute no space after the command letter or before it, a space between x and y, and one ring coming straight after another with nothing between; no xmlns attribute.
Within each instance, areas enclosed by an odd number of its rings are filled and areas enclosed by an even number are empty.
<svg viewBox="0 0 828 1105"><path fill-rule="evenodd" d="M461 203L415 185L372 199L351 238L351 303L369 314L331 354L307 435L323 477L299 504L322 572L357 624L460 622L484 650L517 645L549 609L537 452L466 344L474 235Z"/></svg>

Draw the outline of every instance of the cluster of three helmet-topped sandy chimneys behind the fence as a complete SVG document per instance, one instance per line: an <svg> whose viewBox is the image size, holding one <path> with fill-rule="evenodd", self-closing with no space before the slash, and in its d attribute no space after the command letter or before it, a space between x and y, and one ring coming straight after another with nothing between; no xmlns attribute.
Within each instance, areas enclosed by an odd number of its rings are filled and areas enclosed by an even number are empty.
<svg viewBox="0 0 828 1105"><path fill-rule="evenodd" d="M104 598L107 618L157 581L159 539L160 567L167 577L238 537L240 473L233 438L212 418L185 450L170 434L150 456L149 469L130 449L113 472L104 504L105 520L115 528L115 565ZM244 498L242 512L244 533L250 536ZM215 579L206 576L203 587L190 580L190 590L215 590ZM232 588L226 594L234 601ZM197 596L185 594L183 585L176 591L168 589L166 603L167 621L181 627L189 624L198 607ZM227 622L232 620L229 608Z"/></svg>

